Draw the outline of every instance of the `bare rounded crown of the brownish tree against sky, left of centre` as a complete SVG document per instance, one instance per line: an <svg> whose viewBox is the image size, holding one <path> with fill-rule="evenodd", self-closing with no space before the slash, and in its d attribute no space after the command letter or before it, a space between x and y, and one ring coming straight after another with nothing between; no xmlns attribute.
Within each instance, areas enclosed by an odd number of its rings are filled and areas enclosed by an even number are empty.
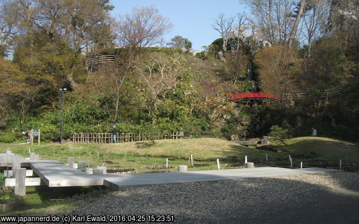
<svg viewBox="0 0 359 224"><path fill-rule="evenodd" d="M169 19L151 5L134 7L131 14L120 16L115 29L121 45L136 48L163 43L163 35L172 27Z"/></svg>

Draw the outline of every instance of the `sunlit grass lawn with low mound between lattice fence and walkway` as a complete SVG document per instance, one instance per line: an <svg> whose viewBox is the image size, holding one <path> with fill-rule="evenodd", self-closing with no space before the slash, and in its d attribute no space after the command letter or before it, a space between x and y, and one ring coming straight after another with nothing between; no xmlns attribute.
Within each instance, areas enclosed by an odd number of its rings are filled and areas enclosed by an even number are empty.
<svg viewBox="0 0 359 224"><path fill-rule="evenodd" d="M169 165L185 165L188 157L193 156L195 163L208 164L210 167L198 169L215 169L216 159L227 162L237 156L239 161L265 160L266 154L273 160L282 160L286 154L268 152L255 148L240 146L236 143L216 138L194 139L166 139L156 140L156 144L150 141L126 142L117 144L48 144L48 145L0 145L0 151L10 147L11 151L28 156L28 150L39 154L42 159L56 159L66 163L67 157L75 157L75 161L84 160L93 166L106 164L111 167L112 163L120 164L121 167L133 167L139 169L144 165L166 164L166 158L170 158ZM147 159L146 159L147 156ZM222 163L222 162L221 162ZM198 170L193 168L193 170Z"/></svg>

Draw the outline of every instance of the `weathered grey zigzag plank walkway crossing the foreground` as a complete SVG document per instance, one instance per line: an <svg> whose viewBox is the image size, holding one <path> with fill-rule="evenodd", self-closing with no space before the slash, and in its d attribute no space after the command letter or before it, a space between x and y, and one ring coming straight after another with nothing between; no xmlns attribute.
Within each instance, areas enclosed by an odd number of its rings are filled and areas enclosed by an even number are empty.
<svg viewBox="0 0 359 224"><path fill-rule="evenodd" d="M39 178L32 178L32 180L25 181L25 183L28 183L26 184L27 186L34 186L36 184L46 184L49 187L105 185L112 190L141 185L220 181L338 171L324 168L286 169L259 167L169 173L89 175L56 160L28 160L20 155L0 155L1 164L8 164L9 161L28 163L33 172L40 177L41 180ZM9 186L10 184L12 186L14 184L12 182L13 180L8 180L7 183Z"/></svg>

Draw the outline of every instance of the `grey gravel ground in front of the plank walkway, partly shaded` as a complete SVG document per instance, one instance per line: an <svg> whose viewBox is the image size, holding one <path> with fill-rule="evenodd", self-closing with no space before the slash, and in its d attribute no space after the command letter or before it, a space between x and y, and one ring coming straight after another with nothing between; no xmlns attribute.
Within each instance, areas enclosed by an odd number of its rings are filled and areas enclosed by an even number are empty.
<svg viewBox="0 0 359 224"><path fill-rule="evenodd" d="M174 215L175 223L359 223L359 174L329 172L124 189L69 215Z"/></svg>

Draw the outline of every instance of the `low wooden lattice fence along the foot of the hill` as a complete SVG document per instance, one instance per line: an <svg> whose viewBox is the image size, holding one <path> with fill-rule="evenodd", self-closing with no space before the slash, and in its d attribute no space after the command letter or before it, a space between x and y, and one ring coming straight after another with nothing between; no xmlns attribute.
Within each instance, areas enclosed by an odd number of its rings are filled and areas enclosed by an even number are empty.
<svg viewBox="0 0 359 224"><path fill-rule="evenodd" d="M113 143L112 133L70 133L73 143ZM168 132L153 132L151 133L155 139L178 139L178 131ZM135 142L135 141L146 141L148 135L146 132L140 133L118 133L116 136L117 142Z"/></svg>

